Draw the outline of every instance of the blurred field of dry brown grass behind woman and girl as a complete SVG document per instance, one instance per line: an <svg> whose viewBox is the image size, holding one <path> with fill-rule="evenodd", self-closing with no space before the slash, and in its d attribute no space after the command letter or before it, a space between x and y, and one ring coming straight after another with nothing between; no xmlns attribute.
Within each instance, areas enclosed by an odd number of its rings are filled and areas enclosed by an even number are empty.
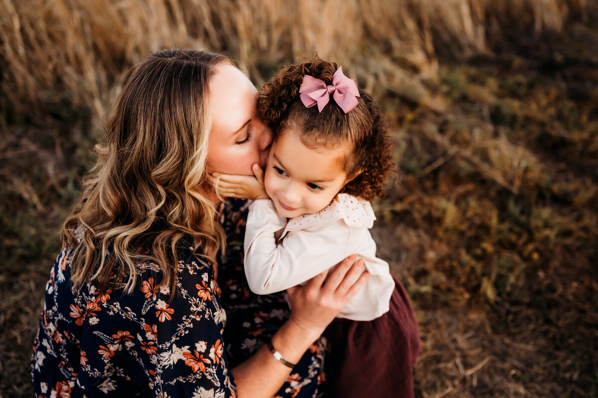
<svg viewBox="0 0 598 398"><path fill-rule="evenodd" d="M595 0L0 0L0 396L124 73L226 51L260 87L318 53L370 90L398 174L374 203L420 397L598 395Z"/></svg>

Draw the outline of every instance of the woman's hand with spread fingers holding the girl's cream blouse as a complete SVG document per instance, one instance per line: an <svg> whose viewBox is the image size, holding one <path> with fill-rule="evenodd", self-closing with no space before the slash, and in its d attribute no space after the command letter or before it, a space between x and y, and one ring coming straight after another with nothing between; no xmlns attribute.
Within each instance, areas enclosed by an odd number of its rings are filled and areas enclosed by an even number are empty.
<svg viewBox="0 0 598 398"><path fill-rule="evenodd" d="M317 339L338 312L352 299L370 276L364 269L364 261L356 254L337 264L328 275L324 271L303 286L288 288L291 302L291 318L295 324ZM328 278L327 278L328 275Z"/></svg>

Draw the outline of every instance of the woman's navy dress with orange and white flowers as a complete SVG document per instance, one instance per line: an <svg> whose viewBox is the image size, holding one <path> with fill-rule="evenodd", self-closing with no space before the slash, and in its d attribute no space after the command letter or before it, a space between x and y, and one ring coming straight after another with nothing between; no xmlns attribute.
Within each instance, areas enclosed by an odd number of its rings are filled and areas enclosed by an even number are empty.
<svg viewBox="0 0 598 398"><path fill-rule="evenodd" d="M283 296L253 296L243 284L245 218L245 201L224 205L229 245L218 270L222 293L212 266L185 247L179 248L172 300L169 288L156 287L161 273L151 262L139 264L132 294L116 280L103 294L90 283L75 290L72 251L63 248L33 344L36 396L236 397L231 367L260 348L289 314ZM306 352L278 397L321 394L324 343Z"/></svg>

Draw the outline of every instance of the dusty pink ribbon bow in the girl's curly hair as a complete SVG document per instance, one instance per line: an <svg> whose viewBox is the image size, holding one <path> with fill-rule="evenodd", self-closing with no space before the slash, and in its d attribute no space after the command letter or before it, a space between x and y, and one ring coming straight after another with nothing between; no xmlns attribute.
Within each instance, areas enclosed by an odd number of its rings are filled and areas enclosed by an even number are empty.
<svg viewBox="0 0 598 398"><path fill-rule="evenodd" d="M334 101L343 110L344 113L349 113L358 104L357 98L359 90L355 81L346 77L343 74L342 66L332 75L332 86L327 86L324 81L316 79L310 75L305 75L301 82L299 89L299 98L306 108L311 108L318 104L318 111L322 112L328 101L330 95Z"/></svg>

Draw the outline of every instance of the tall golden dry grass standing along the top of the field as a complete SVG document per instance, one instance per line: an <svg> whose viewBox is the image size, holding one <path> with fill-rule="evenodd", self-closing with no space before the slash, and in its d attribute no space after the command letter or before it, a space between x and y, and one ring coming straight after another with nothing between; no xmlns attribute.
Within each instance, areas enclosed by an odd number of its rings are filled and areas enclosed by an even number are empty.
<svg viewBox="0 0 598 398"><path fill-rule="evenodd" d="M489 53L502 31L560 31L587 0L0 0L0 108L102 115L123 72L164 47L228 51L257 84L280 63L318 53L368 88L425 99L435 48ZM264 75L266 74L266 75Z"/></svg>

